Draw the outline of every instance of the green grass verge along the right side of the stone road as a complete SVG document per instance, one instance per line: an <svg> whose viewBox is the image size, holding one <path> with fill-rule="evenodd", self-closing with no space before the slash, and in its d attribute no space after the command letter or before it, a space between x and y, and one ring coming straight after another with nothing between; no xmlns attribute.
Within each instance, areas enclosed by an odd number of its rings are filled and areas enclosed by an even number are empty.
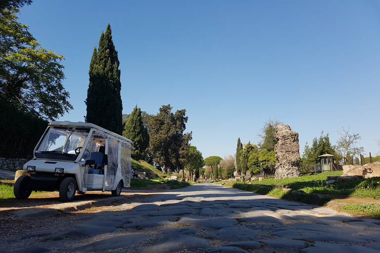
<svg viewBox="0 0 380 253"><path fill-rule="evenodd" d="M380 177L367 179L357 179L348 182L326 183L328 175L341 175L342 171L324 172L317 175L305 175L294 178L274 179L268 178L263 181L251 182L226 182L217 181L223 184L250 191L262 195L302 202L306 204L325 205L331 199L347 197L380 199ZM293 192L292 191L297 191ZM316 203L312 194L323 195L324 198ZM367 215L380 219L380 204L349 204L341 207L342 210L357 214Z"/></svg>

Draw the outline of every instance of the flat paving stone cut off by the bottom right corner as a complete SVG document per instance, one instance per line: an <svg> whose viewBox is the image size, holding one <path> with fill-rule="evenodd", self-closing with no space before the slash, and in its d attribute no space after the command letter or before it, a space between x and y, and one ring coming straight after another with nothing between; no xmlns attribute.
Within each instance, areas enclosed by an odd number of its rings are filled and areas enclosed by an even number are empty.
<svg viewBox="0 0 380 253"><path fill-rule="evenodd" d="M362 245L353 244L337 244L337 243L322 243L315 242L314 247L308 247L301 250L301 253L375 253L373 249Z"/></svg>

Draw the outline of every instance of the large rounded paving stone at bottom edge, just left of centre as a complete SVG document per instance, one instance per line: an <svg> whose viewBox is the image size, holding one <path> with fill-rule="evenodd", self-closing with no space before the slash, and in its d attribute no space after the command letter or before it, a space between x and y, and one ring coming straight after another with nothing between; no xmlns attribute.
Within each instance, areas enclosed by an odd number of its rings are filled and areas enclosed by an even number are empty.
<svg viewBox="0 0 380 253"><path fill-rule="evenodd" d="M177 235L164 238L158 241L155 245L141 248L136 253L174 253L183 250L202 250L208 249L211 244L202 238Z"/></svg>

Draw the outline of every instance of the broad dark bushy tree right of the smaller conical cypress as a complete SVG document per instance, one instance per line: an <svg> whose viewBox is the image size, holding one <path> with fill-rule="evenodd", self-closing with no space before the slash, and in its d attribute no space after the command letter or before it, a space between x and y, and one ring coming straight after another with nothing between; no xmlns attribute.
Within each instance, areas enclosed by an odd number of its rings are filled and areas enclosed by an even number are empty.
<svg viewBox="0 0 380 253"><path fill-rule="evenodd" d="M186 110L172 113L172 108L170 104L163 105L149 121L148 152L165 173L184 169L192 138L192 132L184 133L188 122Z"/></svg>

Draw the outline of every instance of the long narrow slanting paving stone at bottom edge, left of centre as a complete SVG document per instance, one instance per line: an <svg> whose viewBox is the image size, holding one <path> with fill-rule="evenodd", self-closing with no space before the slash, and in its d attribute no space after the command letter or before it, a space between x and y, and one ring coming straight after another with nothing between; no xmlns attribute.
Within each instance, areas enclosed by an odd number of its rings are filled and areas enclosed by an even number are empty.
<svg viewBox="0 0 380 253"><path fill-rule="evenodd" d="M106 239L78 247L75 250L80 251L80 252L85 252L85 253L105 252L108 250L115 250L119 248L128 247L150 238L151 236L145 235L145 234L110 236L110 237L107 237Z"/></svg>

